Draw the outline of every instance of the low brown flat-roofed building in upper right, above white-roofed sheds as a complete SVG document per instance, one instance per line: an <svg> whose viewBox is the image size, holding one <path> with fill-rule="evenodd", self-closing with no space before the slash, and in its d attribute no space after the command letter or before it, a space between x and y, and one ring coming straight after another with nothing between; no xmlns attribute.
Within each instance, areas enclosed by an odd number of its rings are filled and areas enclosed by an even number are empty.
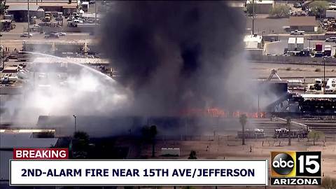
<svg viewBox="0 0 336 189"><path fill-rule="evenodd" d="M290 31L303 30L317 32L318 22L314 16L291 16L289 18Z"/></svg>

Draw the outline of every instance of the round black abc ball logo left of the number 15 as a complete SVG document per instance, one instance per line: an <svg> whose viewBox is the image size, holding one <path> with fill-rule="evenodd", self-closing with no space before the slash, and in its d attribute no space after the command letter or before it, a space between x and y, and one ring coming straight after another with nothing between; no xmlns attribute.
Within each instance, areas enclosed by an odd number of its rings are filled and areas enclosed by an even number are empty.
<svg viewBox="0 0 336 189"><path fill-rule="evenodd" d="M294 160L287 153L279 153L273 158L272 168L277 174L287 175L293 171L294 167Z"/></svg>

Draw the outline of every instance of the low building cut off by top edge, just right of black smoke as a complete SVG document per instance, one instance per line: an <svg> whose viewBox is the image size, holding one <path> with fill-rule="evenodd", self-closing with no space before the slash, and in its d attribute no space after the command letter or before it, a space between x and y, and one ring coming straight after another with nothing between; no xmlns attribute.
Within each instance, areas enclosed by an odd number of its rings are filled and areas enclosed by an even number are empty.
<svg viewBox="0 0 336 189"><path fill-rule="evenodd" d="M246 7L248 13L252 13L253 3L255 14L269 14L274 6L274 0L247 0Z"/></svg>

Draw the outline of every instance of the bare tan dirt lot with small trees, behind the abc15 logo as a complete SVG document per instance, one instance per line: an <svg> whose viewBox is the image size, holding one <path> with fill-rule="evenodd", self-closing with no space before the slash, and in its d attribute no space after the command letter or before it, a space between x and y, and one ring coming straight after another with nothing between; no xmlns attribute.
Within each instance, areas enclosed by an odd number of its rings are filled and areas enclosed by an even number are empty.
<svg viewBox="0 0 336 189"><path fill-rule="evenodd" d="M262 146L263 144L263 146ZM279 146L280 144L280 146ZM287 146L288 139L248 139L245 146L241 146L241 140L235 139L233 136L216 136L215 139L204 137L194 141L158 141L155 146L157 157L160 156L161 148L180 148L181 159L187 159L190 151L197 152L198 159L220 159L220 160L239 160L239 159L267 159L269 160L271 151L322 151L322 174L336 178L336 141L326 141L323 146L322 141L318 141L316 146L313 146L312 141L302 139L292 139L292 146ZM250 152L252 146L252 152ZM151 157L151 146L143 146L141 151L142 156ZM244 187L246 188L246 187ZM265 188L265 187L247 187L247 188ZM295 188L291 187L272 187L267 188ZM304 188L304 186L296 187ZM314 188L309 186L309 188ZM316 187L319 188L319 187Z"/></svg>

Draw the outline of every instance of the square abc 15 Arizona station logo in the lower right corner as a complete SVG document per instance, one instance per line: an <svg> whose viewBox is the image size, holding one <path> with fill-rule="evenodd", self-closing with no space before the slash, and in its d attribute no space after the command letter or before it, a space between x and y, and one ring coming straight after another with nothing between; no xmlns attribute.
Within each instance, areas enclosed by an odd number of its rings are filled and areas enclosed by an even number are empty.
<svg viewBox="0 0 336 189"><path fill-rule="evenodd" d="M321 185L321 152L272 152L272 185Z"/></svg>

